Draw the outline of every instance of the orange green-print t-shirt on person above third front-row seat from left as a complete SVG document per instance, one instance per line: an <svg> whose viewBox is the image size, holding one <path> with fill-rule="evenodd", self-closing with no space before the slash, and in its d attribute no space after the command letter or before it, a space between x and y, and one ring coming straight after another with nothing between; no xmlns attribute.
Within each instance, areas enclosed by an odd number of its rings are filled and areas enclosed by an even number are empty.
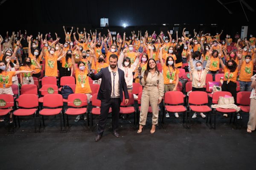
<svg viewBox="0 0 256 170"><path fill-rule="evenodd" d="M58 76L58 68L57 68L57 55L53 55L49 57L48 51L46 51L45 57L45 76Z"/></svg>

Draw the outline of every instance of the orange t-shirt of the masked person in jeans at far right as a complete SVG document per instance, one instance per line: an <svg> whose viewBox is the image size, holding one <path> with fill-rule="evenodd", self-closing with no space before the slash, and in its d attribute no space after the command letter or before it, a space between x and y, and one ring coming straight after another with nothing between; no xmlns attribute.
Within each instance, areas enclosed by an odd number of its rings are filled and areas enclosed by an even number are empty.
<svg viewBox="0 0 256 170"><path fill-rule="evenodd" d="M241 70L239 74L239 80L243 82L250 82L251 77L253 76L253 61L246 63L242 62Z"/></svg>

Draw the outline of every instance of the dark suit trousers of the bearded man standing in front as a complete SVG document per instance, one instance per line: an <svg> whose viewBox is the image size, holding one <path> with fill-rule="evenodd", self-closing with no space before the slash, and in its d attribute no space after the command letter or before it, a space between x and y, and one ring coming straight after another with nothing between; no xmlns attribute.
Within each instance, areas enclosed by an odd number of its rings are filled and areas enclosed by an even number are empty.
<svg viewBox="0 0 256 170"><path fill-rule="evenodd" d="M101 102L99 124L98 124L99 135L102 135L105 130L110 107L112 108L113 131L118 130L120 105L121 105L120 98L113 98L113 99L111 98L108 102Z"/></svg>

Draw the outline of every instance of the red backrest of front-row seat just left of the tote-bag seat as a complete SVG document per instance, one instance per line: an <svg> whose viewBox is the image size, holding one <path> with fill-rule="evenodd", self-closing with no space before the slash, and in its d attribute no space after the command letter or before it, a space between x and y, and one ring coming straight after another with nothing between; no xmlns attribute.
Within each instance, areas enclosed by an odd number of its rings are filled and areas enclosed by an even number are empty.
<svg viewBox="0 0 256 170"><path fill-rule="evenodd" d="M192 91L189 93L189 104L203 105L208 103L208 95L204 91Z"/></svg>

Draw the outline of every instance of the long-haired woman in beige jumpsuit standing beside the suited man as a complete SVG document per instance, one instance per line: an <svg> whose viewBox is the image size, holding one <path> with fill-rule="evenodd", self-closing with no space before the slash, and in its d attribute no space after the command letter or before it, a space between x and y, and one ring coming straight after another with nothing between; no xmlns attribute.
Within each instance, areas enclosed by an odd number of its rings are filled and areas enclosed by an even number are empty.
<svg viewBox="0 0 256 170"><path fill-rule="evenodd" d="M157 63L154 59L149 59L147 70L142 73L140 84L144 86L141 97L140 109L140 127L138 133L142 132L146 124L149 103L152 108L152 128L150 133L154 133L158 123L159 103L163 98L163 74L157 69Z"/></svg>

